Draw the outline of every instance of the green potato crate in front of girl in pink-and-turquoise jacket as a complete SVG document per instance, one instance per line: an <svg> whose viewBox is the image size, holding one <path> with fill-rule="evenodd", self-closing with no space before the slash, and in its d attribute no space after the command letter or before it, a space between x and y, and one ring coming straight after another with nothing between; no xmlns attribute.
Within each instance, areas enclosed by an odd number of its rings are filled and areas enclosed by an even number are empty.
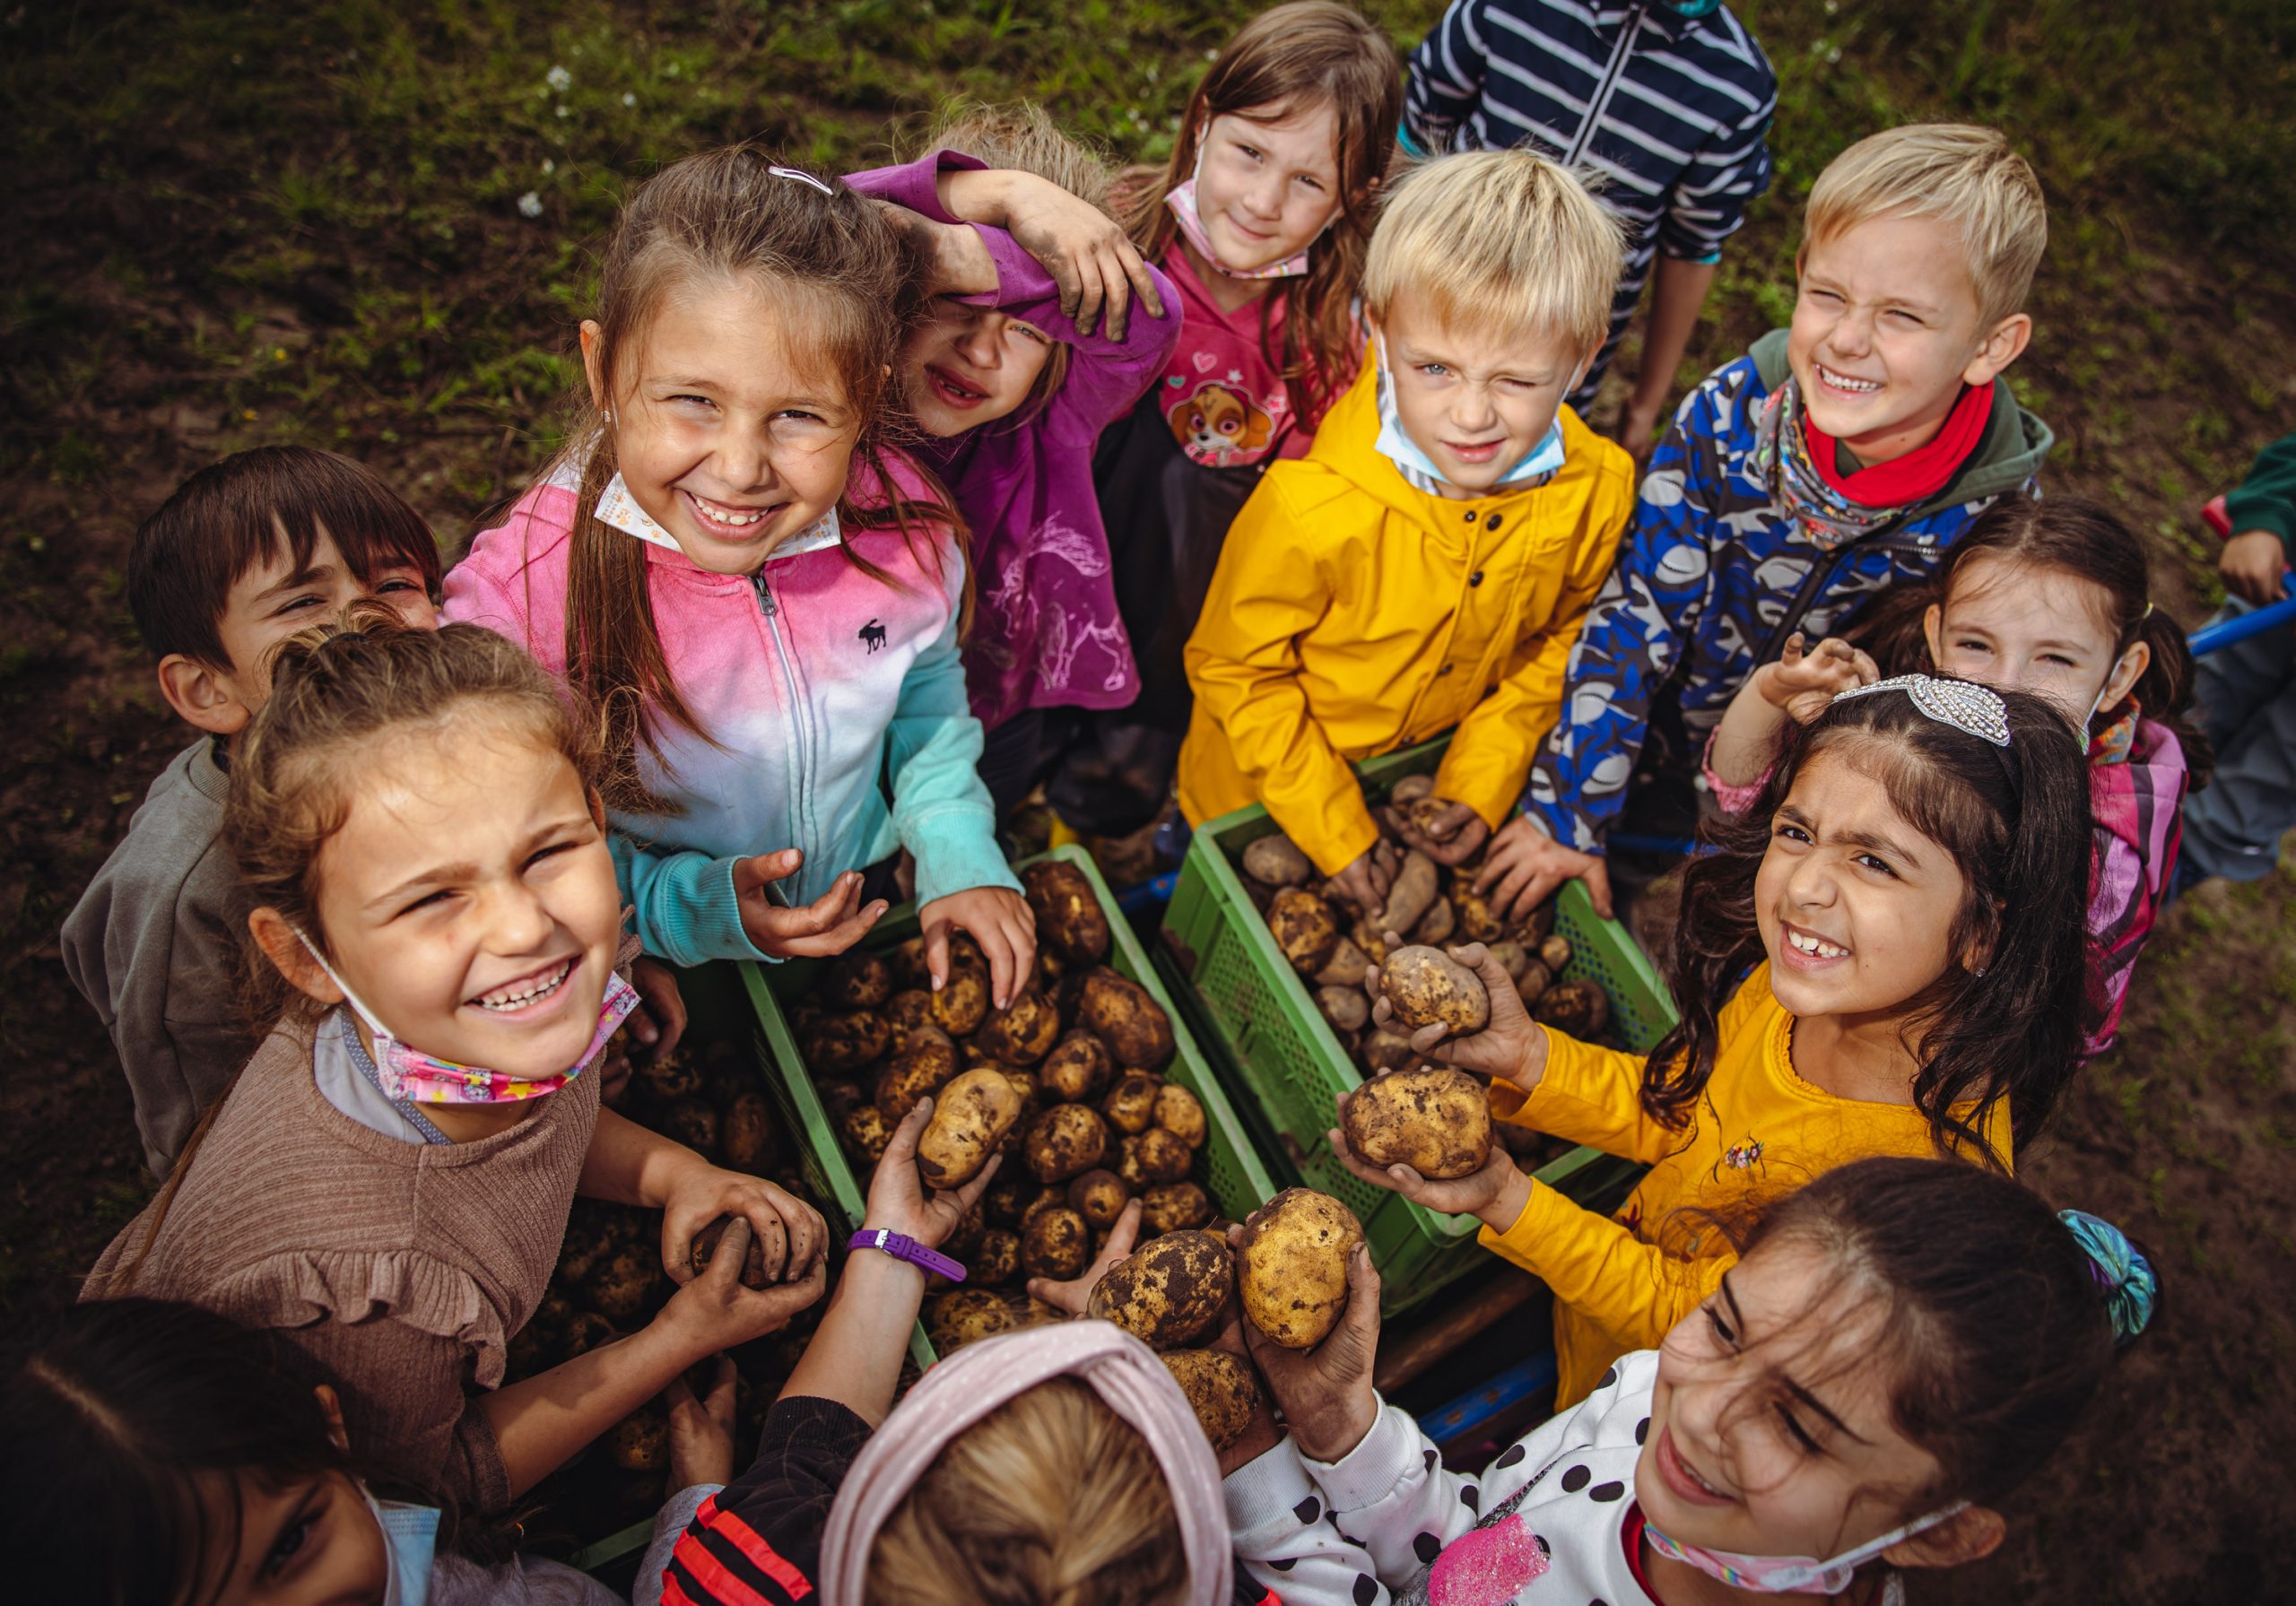
<svg viewBox="0 0 2296 1606"><path fill-rule="evenodd" d="M1196 1037L1187 1030L1187 1016L1180 1014L1171 993L1164 991L1164 982L1157 977L1155 966L1148 961L1148 952L1132 934L1132 925L1116 906L1109 883L1100 879L1100 870L1093 865L1091 853L1079 847L1058 847L1049 853L1040 853L1038 858L1022 860L1022 867L1047 858L1075 865L1084 872L1084 879L1093 883L1093 897L1100 899L1100 911L1109 918L1109 934L1114 938L1109 945L1109 968L1146 987L1157 1005L1162 1005L1164 1014L1171 1016L1173 1055L1171 1065L1164 1067L1164 1078L1196 1094L1196 1101L1203 1106L1205 1122L1205 1140L1203 1147L1196 1149L1196 1168L1192 1175L1196 1184L1212 1195L1212 1202L1224 1216L1242 1221L1274 1198L1277 1184L1270 1182L1267 1168L1261 1163L1258 1152L1244 1133L1244 1124L1235 1117L1235 1108L1228 1104L1228 1094L1205 1065L1203 1051L1196 1046ZM863 943L863 950L905 943L916 936L916 906L902 904L877 922L870 931L870 941ZM790 1131L804 1133L799 1163L804 1168L806 1184L813 1186L820 1198L836 1202L838 1211L845 1216L845 1232L856 1232L861 1227L866 1186L861 1177L854 1175L852 1161L845 1156L845 1145L838 1140L829 1110L822 1108L822 1097L813 1087L813 1076L806 1071L804 1058L797 1053L797 1037L781 1007L783 998L794 1000L806 996L820 964L822 961L817 959L790 959L774 966L744 964L742 980L748 984L748 1000L758 1012L758 1026L767 1042L765 1060L771 1067L767 1085L774 1087L776 1101L788 1115ZM918 1367L934 1363L937 1356L932 1354L932 1342L925 1338L923 1326L909 1335L909 1354Z"/></svg>

